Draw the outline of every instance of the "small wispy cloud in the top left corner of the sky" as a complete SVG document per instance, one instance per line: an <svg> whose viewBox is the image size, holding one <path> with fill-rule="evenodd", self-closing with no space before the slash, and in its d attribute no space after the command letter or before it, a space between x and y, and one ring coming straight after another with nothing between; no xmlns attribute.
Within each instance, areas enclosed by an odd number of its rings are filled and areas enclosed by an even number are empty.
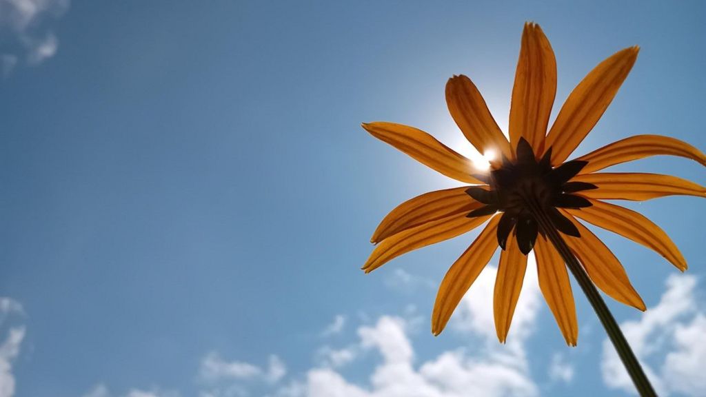
<svg viewBox="0 0 706 397"><path fill-rule="evenodd" d="M0 0L0 62L5 75L20 59L40 64L53 57L59 40L48 21L60 18L69 0Z"/></svg>

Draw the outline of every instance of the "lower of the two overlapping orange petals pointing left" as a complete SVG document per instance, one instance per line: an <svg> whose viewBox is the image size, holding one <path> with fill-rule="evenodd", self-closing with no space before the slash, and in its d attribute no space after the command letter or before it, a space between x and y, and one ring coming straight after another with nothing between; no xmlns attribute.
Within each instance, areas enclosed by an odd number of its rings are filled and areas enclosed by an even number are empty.
<svg viewBox="0 0 706 397"><path fill-rule="evenodd" d="M465 213L458 213L399 232L384 239L373 249L363 265L363 270L365 273L370 273L409 251L462 235L482 225L488 218L490 215L467 218Z"/></svg>

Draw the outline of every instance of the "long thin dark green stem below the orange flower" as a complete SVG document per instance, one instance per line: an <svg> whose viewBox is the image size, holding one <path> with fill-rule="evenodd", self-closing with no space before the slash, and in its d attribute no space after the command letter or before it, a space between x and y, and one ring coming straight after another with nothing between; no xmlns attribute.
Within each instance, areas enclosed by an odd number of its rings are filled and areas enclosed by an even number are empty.
<svg viewBox="0 0 706 397"><path fill-rule="evenodd" d="M534 213L533 215L537 218L537 223L539 223L539 226L542 227L546 237L551 240L551 243L554 244L556 250L559 254L561 254L561 257L566 262L566 266L568 266L569 270L574 275L574 278L578 281L578 284L581 286L581 289L588 298L588 301L591 303L591 306L598 315L598 318L601 320L603 327L606 329L606 333L608 333L608 337L618 352L618 356L620 356L623 365L625 365L625 368L628 370L628 374L630 374L630 379L633 379L633 383L635 384L635 388L638 389L638 393L640 393L640 396L643 397L656 397L657 393L654 392L652 384L650 384L647 376L645 376L645 371L642 370L640 362L638 362L637 357L635 357L635 353L633 353L633 350L628 344L628 340L626 340L625 336L623 336L623 332L620 327L618 327L616 319L614 319L613 314L611 314L610 310L606 306L606 302L604 302L600 293L596 289L596 286L588 277L588 274L580 265L576 259L576 256L574 256L571 252L568 245L566 245L566 242L563 240L561 235L559 235L559 232L551 223L549 216L542 210L542 207L531 206L531 208L532 213Z"/></svg>

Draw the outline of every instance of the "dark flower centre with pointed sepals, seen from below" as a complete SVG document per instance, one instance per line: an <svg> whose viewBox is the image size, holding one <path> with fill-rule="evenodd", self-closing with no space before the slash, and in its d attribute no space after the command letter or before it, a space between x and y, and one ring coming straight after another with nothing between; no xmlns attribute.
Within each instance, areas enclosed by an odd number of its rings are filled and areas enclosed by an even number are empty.
<svg viewBox="0 0 706 397"><path fill-rule="evenodd" d="M471 186L466 190L469 196L485 204L466 216L474 218L502 212L498 223L498 245L505 249L510 232L514 229L517 244L525 255L532 251L537 234L544 233L538 227L538 214L546 214L556 230L579 237L575 225L556 208L591 206L586 198L572 193L596 189L597 186L585 182L569 182L587 162L573 160L551 167L551 148L537 161L532 146L525 138L520 138L515 153L515 162L503 156L500 168L487 174L474 175L489 186Z"/></svg>

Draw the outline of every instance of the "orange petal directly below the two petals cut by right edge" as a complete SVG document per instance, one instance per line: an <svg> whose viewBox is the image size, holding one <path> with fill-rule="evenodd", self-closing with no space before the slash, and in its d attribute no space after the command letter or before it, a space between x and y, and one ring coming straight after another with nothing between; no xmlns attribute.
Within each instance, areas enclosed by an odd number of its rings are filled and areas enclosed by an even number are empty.
<svg viewBox="0 0 706 397"><path fill-rule="evenodd" d="M566 212L588 223L617 233L664 256L679 270L686 270L686 259L664 230L651 220L635 211L621 206L591 200L592 206L580 210L567 209Z"/></svg>

